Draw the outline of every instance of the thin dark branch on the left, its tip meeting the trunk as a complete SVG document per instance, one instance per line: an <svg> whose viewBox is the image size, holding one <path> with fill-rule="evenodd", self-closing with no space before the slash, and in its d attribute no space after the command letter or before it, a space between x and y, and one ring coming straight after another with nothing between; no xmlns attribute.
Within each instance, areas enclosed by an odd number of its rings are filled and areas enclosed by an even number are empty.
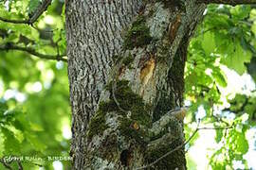
<svg viewBox="0 0 256 170"><path fill-rule="evenodd" d="M41 58L41 59L53 59L53 60L63 60L67 61L67 59L64 59L64 56L66 55L46 55L42 53L38 53L35 49L30 48L30 47L22 47L15 45L13 43L7 43L7 44L1 44L0 45L0 50L17 50L17 51L24 51L27 52L35 57Z"/></svg>

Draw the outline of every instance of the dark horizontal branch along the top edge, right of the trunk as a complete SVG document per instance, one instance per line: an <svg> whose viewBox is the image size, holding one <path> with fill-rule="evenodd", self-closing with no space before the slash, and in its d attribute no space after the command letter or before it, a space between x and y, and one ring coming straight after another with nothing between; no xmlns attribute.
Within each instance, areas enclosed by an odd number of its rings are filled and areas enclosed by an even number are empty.
<svg viewBox="0 0 256 170"><path fill-rule="evenodd" d="M197 2L204 4L226 4L231 6L256 4L256 0L197 0Z"/></svg>

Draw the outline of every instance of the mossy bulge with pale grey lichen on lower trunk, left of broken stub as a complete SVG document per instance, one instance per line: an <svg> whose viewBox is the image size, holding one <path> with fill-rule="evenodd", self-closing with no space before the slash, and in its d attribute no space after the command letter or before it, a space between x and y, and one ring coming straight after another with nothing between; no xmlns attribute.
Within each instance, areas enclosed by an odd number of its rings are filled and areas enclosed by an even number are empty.
<svg viewBox="0 0 256 170"><path fill-rule="evenodd" d="M132 91L129 81L117 81L115 92L113 83L111 81L105 87L104 91L110 94L105 97L105 101L101 101L98 112L90 122L88 148L92 149L89 149L89 155L95 156L88 159L96 164L103 160L102 162L114 161L115 164L129 165L127 158L124 159L124 152L134 154L149 142L149 134L145 129L151 127L151 107L144 104L142 98ZM102 112L104 113L101 114ZM110 150L112 153L109 153Z"/></svg>

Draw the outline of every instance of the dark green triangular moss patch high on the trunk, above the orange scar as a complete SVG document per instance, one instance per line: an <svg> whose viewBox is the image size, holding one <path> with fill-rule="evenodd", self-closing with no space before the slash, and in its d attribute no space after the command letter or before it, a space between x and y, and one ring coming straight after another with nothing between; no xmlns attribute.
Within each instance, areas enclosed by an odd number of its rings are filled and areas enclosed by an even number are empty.
<svg viewBox="0 0 256 170"><path fill-rule="evenodd" d="M146 26L146 19L142 15L137 16L137 20L132 24L128 30L125 39L124 47L126 49L133 49L137 46L143 46L152 41L150 36L150 29Z"/></svg>

